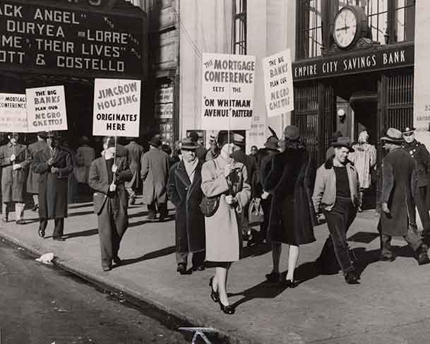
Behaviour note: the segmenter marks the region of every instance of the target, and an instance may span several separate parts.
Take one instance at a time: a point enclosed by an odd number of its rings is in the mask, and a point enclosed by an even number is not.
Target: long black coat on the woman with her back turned
[[[263,186],[273,195],[268,235],[272,242],[309,244],[315,241],[316,215],[312,192],[316,168],[304,148],[286,148],[272,159]]]

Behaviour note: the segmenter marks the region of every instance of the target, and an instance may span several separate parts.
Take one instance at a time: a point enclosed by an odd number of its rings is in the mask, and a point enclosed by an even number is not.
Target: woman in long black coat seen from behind
[[[296,287],[294,269],[299,259],[299,246],[315,241],[313,226],[317,221],[312,192],[316,168],[300,140],[297,126],[286,126],[284,136],[282,153],[273,157],[270,171],[263,181],[264,189],[273,195],[268,225],[273,270],[265,277],[270,282],[283,282],[280,256],[282,244],[288,244],[286,286]]]

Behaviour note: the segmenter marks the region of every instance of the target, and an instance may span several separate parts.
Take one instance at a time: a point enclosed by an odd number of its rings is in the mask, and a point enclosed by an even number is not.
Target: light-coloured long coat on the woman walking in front
[[[227,162],[221,157],[207,161],[201,170],[201,189],[208,197],[220,195],[220,206],[213,216],[205,217],[206,261],[238,261],[241,251],[242,210],[251,198],[251,186],[244,164],[234,162],[234,178],[224,176]],[[235,195],[237,204],[225,201]]]

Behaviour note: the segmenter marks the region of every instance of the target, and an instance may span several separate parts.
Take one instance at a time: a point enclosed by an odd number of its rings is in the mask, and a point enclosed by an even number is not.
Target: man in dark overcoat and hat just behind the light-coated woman
[[[182,140],[182,160],[169,170],[167,193],[176,207],[175,238],[177,271],[184,275],[189,254],[193,254],[193,271],[203,271],[205,261],[205,218],[199,208],[203,198],[201,167],[196,157],[197,144]]]

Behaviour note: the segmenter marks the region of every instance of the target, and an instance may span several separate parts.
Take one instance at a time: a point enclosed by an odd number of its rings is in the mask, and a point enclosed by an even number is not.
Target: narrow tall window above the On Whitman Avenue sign
[[[233,54],[246,55],[246,0],[233,0]]]

